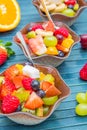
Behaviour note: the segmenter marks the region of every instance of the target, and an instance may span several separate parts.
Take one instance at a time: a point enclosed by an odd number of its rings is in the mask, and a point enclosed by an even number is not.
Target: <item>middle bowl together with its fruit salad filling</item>
[[[55,22],[55,25],[57,28],[51,21],[36,22],[26,25],[21,30],[35,62],[58,66],[69,56],[72,47],[79,42],[79,36],[67,25],[61,22]],[[14,36],[14,41],[28,57],[17,36]]]

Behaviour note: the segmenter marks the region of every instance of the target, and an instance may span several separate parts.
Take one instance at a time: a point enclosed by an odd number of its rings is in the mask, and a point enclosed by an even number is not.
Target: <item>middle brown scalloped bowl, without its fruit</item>
[[[27,24],[21,31],[22,34],[27,34],[28,32],[28,28],[31,27],[34,24],[43,24],[44,22],[36,22],[36,23],[29,23]],[[70,50],[68,53],[65,54],[64,57],[59,57],[59,56],[54,56],[54,55],[41,55],[41,56],[36,56],[36,55],[32,55],[31,53],[31,57],[34,60],[35,63],[40,63],[40,64],[45,64],[45,65],[52,65],[54,67],[59,66],[66,58],[68,58],[68,56],[70,55],[70,52],[72,50],[72,47],[78,43],[80,41],[80,37],[74,32],[72,31],[66,24],[62,23],[62,22],[54,22],[56,26],[58,27],[65,27],[68,29],[69,33],[72,35],[72,38],[74,40],[73,45],[71,46]],[[21,43],[19,43],[17,41],[17,37],[14,36],[13,38],[14,42],[23,50],[24,55],[28,58],[27,53],[25,51],[25,49],[23,48],[23,45]]]

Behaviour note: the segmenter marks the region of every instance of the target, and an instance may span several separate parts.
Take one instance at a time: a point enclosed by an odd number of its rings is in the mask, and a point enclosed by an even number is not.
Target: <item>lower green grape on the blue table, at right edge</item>
[[[80,103],[76,106],[75,112],[79,116],[86,116],[87,115],[87,103]]]

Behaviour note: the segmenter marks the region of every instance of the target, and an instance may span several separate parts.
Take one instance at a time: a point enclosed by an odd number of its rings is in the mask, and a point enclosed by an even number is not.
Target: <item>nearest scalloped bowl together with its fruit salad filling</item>
[[[17,77],[20,80],[16,82]],[[0,74],[0,115],[19,124],[39,124],[69,94],[69,87],[54,67],[14,64]]]

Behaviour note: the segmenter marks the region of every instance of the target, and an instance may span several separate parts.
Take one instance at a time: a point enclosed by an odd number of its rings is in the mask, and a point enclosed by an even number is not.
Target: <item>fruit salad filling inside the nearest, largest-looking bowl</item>
[[[43,117],[56,103],[61,91],[50,73],[26,64],[15,64],[0,75],[0,102],[4,114],[28,112]]]

